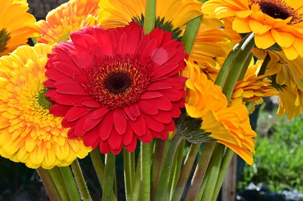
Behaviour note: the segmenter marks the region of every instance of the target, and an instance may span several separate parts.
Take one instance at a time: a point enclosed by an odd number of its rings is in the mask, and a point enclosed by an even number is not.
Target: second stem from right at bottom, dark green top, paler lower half
[[[214,152],[214,157],[212,159],[212,162],[209,166],[209,172],[208,172],[208,181],[205,187],[205,193],[203,193],[201,200],[210,201],[212,200],[215,186],[219,177],[220,173],[220,167],[222,163],[222,158],[224,154],[225,146],[222,144],[218,144],[216,146],[216,151]]]

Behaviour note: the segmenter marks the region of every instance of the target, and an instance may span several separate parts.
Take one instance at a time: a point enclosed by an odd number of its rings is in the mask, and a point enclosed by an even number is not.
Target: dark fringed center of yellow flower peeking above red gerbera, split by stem
[[[141,17],[137,16],[137,17],[132,18],[132,21],[136,22],[143,29],[143,25],[144,25],[144,15],[143,14],[141,14]],[[180,36],[180,34],[182,33],[180,28],[174,29],[172,22],[165,21],[164,18],[160,19],[160,17],[158,17],[155,22],[155,27],[160,28],[163,31],[171,32],[172,39],[175,39],[177,41],[181,41],[181,39],[182,39],[182,37]]]

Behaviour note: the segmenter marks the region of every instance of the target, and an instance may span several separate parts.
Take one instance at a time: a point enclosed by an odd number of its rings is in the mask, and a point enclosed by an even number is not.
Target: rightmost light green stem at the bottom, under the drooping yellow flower
[[[222,147],[225,148],[225,146],[223,145]],[[212,201],[215,201],[218,197],[218,194],[220,192],[220,189],[221,189],[221,186],[223,184],[223,181],[224,181],[224,177],[226,175],[226,172],[228,170],[228,167],[229,167],[229,164],[231,162],[231,159],[234,155],[234,152],[227,148],[226,152],[225,152],[225,155],[224,155],[224,158],[223,158],[223,161],[222,161],[222,164],[221,164],[221,167],[220,167],[220,172],[219,172],[219,176],[218,176],[218,179],[217,179],[217,183],[216,183],[216,186],[215,186],[215,190],[214,190],[214,193],[213,193],[213,198],[211,199]]]

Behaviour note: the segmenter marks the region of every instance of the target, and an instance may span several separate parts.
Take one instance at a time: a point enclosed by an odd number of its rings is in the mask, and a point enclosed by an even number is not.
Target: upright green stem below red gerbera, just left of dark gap
[[[115,175],[115,155],[109,152],[105,157],[105,170],[104,170],[104,181],[103,181],[103,201],[112,200],[113,196],[113,184]]]

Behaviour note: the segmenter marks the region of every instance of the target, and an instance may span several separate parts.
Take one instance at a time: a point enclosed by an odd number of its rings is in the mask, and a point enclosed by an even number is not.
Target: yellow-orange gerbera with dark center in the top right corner
[[[256,46],[277,43],[292,60],[303,57],[303,2],[292,0],[210,0],[202,10],[218,18],[234,17],[238,33],[255,33]]]

